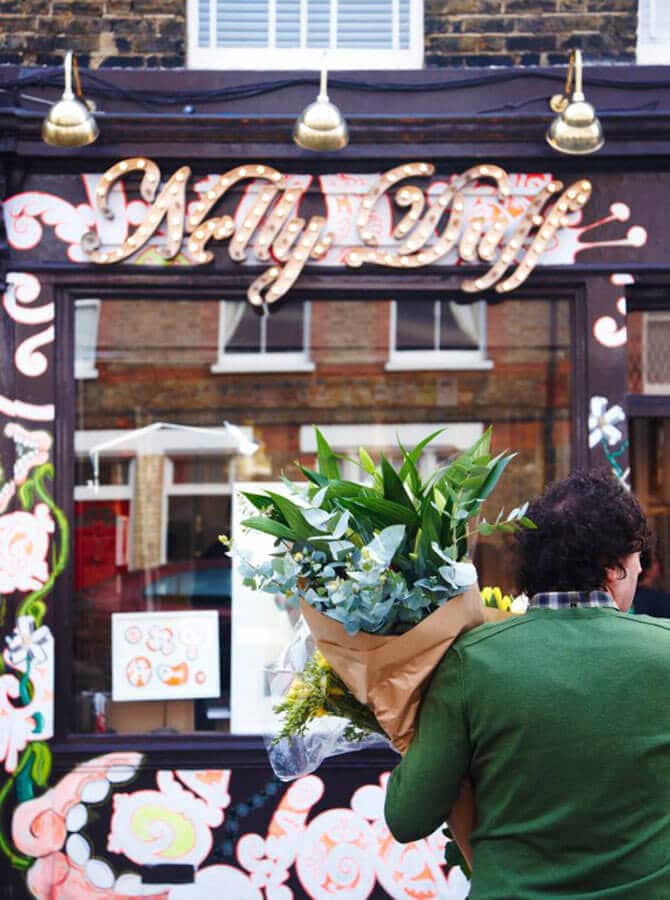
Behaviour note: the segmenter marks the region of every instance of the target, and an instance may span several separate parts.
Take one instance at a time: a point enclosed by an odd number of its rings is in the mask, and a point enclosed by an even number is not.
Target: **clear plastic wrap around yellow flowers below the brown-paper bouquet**
[[[266,674],[275,728],[265,735],[265,746],[275,775],[283,781],[309,775],[331,756],[391,746],[381,730],[371,730],[379,728],[374,716],[317,650],[304,619]]]

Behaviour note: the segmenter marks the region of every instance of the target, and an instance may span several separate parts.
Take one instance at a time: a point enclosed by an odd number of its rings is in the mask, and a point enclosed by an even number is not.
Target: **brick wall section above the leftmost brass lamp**
[[[185,0],[0,0],[0,63],[172,68],[185,61]]]

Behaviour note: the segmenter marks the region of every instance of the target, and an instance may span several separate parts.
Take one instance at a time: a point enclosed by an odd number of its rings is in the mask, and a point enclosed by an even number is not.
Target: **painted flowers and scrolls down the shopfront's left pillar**
[[[44,376],[44,352],[54,338],[53,304],[37,304],[39,281],[9,274],[2,297],[4,314],[25,329],[18,343],[15,371],[29,379]],[[34,404],[0,395],[3,454],[0,463],[0,823],[4,807],[31,800],[46,786],[51,769],[54,716],[54,640],[44,624],[46,601],[65,568],[68,522],[52,496],[52,435],[30,423],[53,420],[51,404]],[[20,420],[20,421],[18,421]],[[25,423],[25,424],[24,424]],[[15,610],[13,623],[7,611]],[[0,824],[0,851],[17,868],[30,859],[12,846]]]

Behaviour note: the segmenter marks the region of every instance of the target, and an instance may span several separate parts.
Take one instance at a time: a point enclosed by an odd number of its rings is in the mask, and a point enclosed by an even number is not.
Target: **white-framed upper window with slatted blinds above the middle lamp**
[[[188,0],[197,69],[420,69],[422,0]]]

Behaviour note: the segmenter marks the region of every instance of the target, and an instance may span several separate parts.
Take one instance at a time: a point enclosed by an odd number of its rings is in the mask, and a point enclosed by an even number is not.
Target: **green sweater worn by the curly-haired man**
[[[397,840],[468,772],[471,900],[670,900],[670,622],[533,609],[461,637],[389,780]]]

